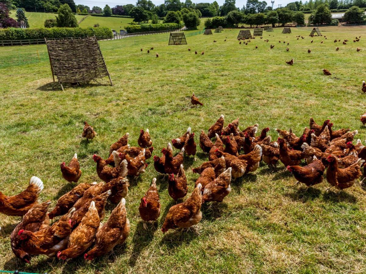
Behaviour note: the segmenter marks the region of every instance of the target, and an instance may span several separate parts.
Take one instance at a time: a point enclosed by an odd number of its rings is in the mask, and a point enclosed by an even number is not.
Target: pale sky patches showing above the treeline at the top
[[[155,5],[160,5],[164,3],[164,0],[152,0],[153,3]],[[182,0],[181,0],[182,1]],[[195,1],[192,0],[192,2],[194,3],[212,3],[214,0],[209,0],[209,1]],[[224,3],[225,0],[216,0],[217,3],[219,3],[219,5],[222,5]],[[260,1],[260,0],[259,0]],[[295,0],[292,0],[295,1]],[[275,4],[273,4],[273,8],[278,8],[279,4],[282,4],[282,6],[285,6],[287,3],[292,2],[291,0],[275,0]],[[183,1],[184,2],[184,1]],[[104,6],[106,4],[108,4],[110,7],[114,7],[115,5],[125,5],[125,4],[136,4],[135,0],[102,0],[102,1],[97,1],[97,0],[75,0],[76,4],[83,4],[83,5],[87,5],[90,8],[92,8],[94,5],[97,5],[98,7],[104,8]],[[245,5],[246,0],[236,0],[236,7],[242,8],[243,5]],[[267,1],[268,5],[272,5],[271,1],[268,0]]]

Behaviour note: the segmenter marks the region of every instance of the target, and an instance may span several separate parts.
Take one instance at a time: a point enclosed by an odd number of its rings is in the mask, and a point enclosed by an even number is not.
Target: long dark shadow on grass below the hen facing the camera
[[[150,229],[150,224],[147,224],[147,230],[143,228],[143,221],[139,221],[134,233],[134,237],[132,239],[132,243],[134,245],[132,249],[132,254],[130,257],[130,260],[128,262],[128,265],[131,267],[134,267],[141,251],[148,246],[151,241],[154,239],[154,233],[158,228],[157,222],[154,222],[152,228]]]

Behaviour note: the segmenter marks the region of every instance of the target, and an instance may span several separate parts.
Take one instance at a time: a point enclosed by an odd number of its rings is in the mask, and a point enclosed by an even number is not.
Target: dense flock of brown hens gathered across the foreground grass
[[[191,103],[202,105],[194,94]],[[361,121],[366,124],[366,113]],[[207,133],[201,130],[199,146],[208,154],[208,161],[193,168],[199,178],[193,193],[184,202],[188,191],[184,154],[194,157],[197,152],[194,132],[188,128],[181,137],[173,138],[162,149],[161,156],[154,155],[154,168],[164,177],[168,175],[168,193],[177,202],[169,209],[161,231],[190,229],[201,220],[203,203],[222,202],[231,191],[232,178],[236,180],[256,171],[261,160],[274,169],[281,161],[296,178],[296,184],[305,184],[306,190],[321,183],[324,173],[330,184],[326,191],[332,187],[341,191],[353,186],[362,175],[361,167],[366,175],[366,147],[360,140],[355,145],[352,143],[357,130],[333,130],[333,123],[329,120],[318,125],[310,118],[310,127],[306,127],[300,137],[291,129],[276,129],[279,138],[272,141],[267,136],[268,131],[269,128],[264,128],[256,136],[258,124],[240,130],[239,118],[224,126],[224,115]],[[85,122],[82,136],[90,140],[96,135],[93,127]],[[145,172],[146,160],[154,149],[148,129],[141,130],[139,146],[130,146],[128,137],[126,133],[110,146],[107,159],[93,155],[97,174],[103,182],[78,184],[61,196],[49,213],[51,201],[38,203],[43,183],[37,177],[32,177],[27,189],[18,195],[8,197],[0,193],[0,212],[23,216],[10,236],[16,257],[27,263],[30,263],[31,256],[41,254],[63,260],[83,255],[86,260],[92,260],[112,252],[115,246],[126,240],[130,233],[124,199],[129,186],[127,176],[139,176]],[[179,150],[176,156],[173,147]],[[300,165],[303,159],[305,166]],[[60,168],[68,182],[78,182],[81,177],[76,153],[68,165],[63,162]],[[101,225],[107,200],[117,206],[108,221]],[[160,209],[154,178],[139,205],[144,229],[147,229],[147,223],[158,219]],[[50,225],[50,219],[57,216],[61,217]]]

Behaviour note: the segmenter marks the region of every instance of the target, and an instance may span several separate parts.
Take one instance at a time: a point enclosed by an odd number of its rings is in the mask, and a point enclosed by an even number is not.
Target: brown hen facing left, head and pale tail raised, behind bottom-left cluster
[[[97,163],[97,174],[101,180],[108,183],[118,177],[126,177],[128,173],[127,161],[123,160],[118,167],[108,167],[105,160],[100,156],[93,155],[94,162]]]

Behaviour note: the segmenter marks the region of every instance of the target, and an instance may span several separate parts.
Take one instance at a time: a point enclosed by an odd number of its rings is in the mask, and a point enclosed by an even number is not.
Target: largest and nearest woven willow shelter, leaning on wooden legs
[[[105,76],[112,79],[105,65],[95,36],[78,39],[45,39],[53,81],[55,76],[64,90],[63,83],[87,82]]]

